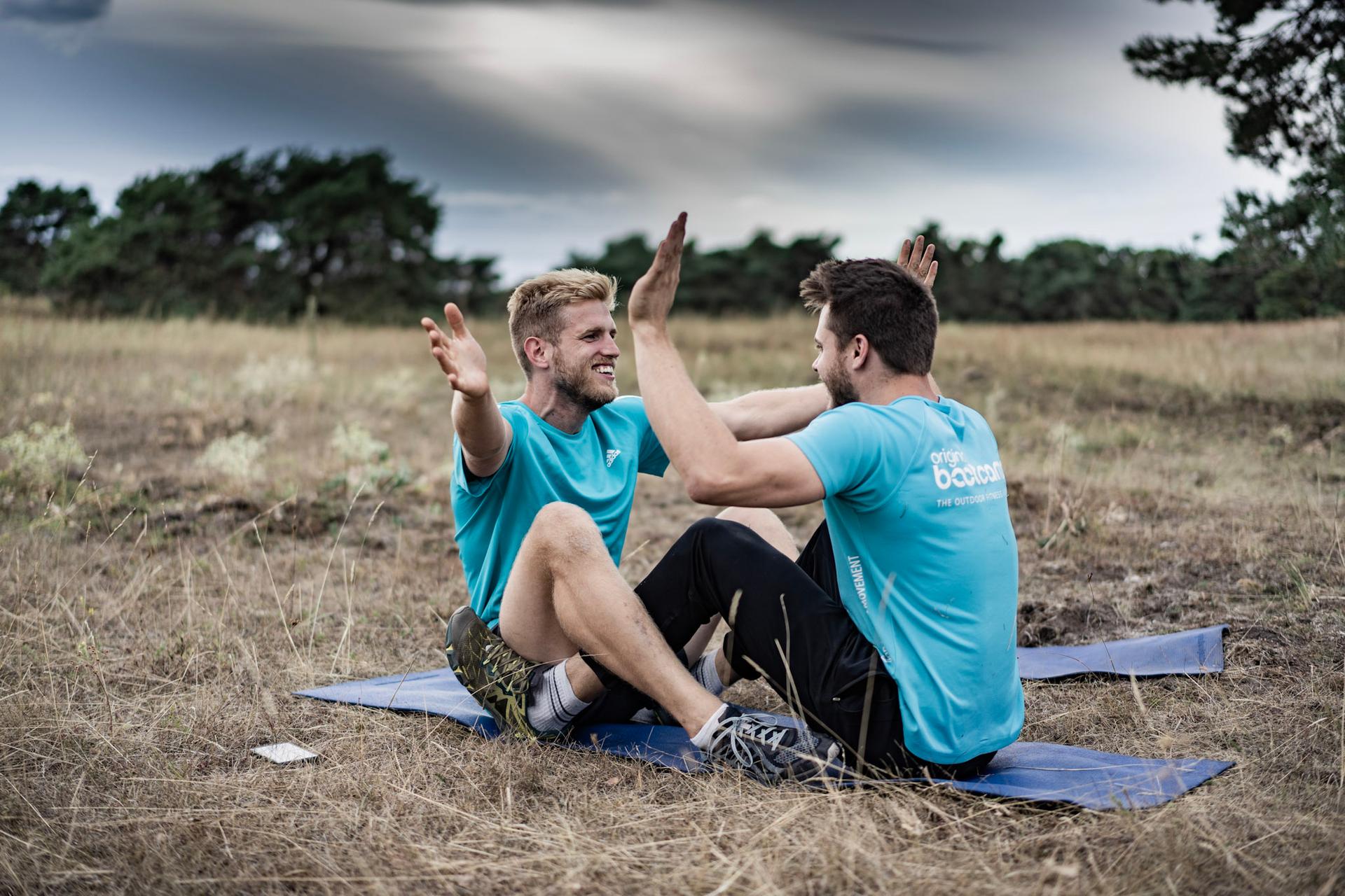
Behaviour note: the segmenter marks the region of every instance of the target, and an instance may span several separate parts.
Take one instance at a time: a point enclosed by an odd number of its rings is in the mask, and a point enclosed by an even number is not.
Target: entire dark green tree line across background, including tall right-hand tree
[[[1163,3],[1165,0],[1158,0]],[[1079,239],[1005,254],[1001,235],[939,246],[936,293],[951,320],[1289,320],[1345,313],[1345,7],[1338,0],[1202,0],[1212,38],[1145,36],[1124,48],[1135,74],[1200,85],[1225,101],[1229,153],[1299,173],[1283,199],[1237,192],[1225,249],[1111,249]],[[499,313],[492,257],[440,258],[432,191],[391,172],[385,152],[243,152],[141,177],[100,215],[89,191],[16,184],[0,207],[0,290],[44,293],[58,309],[331,316],[405,322],[457,301]],[[798,306],[798,283],[839,238],[701,251],[689,243],[678,308],[756,313]],[[629,287],[648,267],[644,235],[566,266]]]

